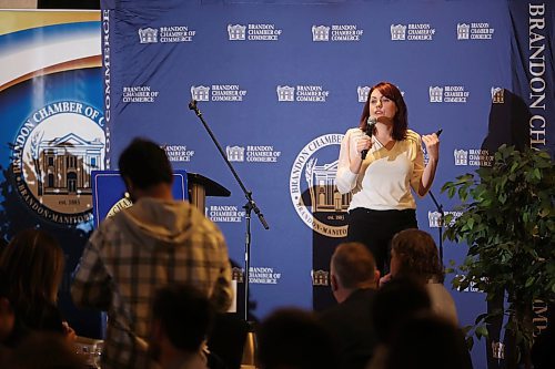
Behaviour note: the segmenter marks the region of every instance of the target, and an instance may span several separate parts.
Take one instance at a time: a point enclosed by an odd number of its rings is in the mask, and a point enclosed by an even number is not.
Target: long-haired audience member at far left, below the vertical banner
[[[17,234],[0,257],[8,298],[17,316],[19,335],[54,331],[74,338],[57,307],[64,256],[58,242],[39,229]]]

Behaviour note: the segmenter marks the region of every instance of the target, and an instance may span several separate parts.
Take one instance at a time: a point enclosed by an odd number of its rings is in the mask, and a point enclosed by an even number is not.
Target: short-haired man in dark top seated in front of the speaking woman
[[[371,311],[380,271],[370,250],[360,243],[339,245],[330,270],[339,305],[325,310],[321,321],[334,338],[340,368],[362,369],[377,341]]]

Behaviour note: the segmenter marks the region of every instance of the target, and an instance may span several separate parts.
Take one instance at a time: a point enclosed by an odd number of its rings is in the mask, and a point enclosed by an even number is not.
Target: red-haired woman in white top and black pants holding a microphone
[[[369,124],[373,129],[365,134]],[[382,275],[393,235],[417,227],[412,191],[418,196],[427,193],[440,160],[437,135],[421,137],[407,126],[401,91],[381,82],[370,90],[359,127],[350,129],[341,144],[335,184],[340,193],[352,194],[347,238],[370,248]]]

